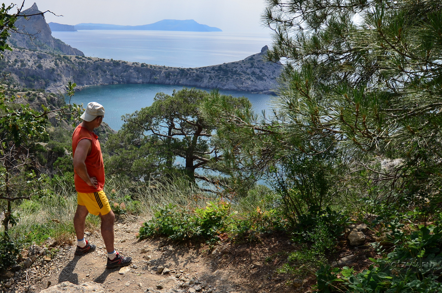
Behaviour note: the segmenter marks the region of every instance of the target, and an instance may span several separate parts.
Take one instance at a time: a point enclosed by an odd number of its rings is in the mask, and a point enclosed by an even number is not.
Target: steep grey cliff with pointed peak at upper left
[[[32,7],[24,10],[22,13],[24,15],[30,15],[41,13],[41,11],[38,10],[37,4],[34,3]],[[47,53],[84,56],[83,52],[80,50],[72,48],[60,39],[55,39],[52,36],[52,31],[49,25],[46,23],[46,20],[42,15],[33,15],[28,17],[28,19],[19,17],[15,22],[15,27],[17,27],[18,31],[22,33],[11,33],[8,42],[12,46]],[[34,35],[35,39],[32,39],[32,37],[23,33]]]

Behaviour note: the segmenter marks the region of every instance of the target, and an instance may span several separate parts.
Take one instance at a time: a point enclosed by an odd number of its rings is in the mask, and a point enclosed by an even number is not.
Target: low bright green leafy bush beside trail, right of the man
[[[210,201],[205,208],[197,208],[194,211],[168,204],[159,208],[152,220],[143,224],[139,237],[144,239],[162,235],[177,241],[198,238],[216,240],[218,235],[235,228],[232,218],[235,214],[231,205],[224,201]]]

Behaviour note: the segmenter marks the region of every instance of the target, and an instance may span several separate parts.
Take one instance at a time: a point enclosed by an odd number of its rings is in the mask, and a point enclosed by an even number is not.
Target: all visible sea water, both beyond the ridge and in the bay
[[[269,34],[187,31],[53,31],[52,35],[85,56],[144,62],[174,67],[201,67],[242,60],[269,45]],[[122,84],[88,86],[76,92],[71,103],[103,104],[104,122],[118,130],[122,115],[152,104],[156,93],[172,94],[176,85]],[[210,89],[205,89],[210,90]],[[271,96],[241,91],[220,90],[222,94],[247,97],[256,112],[270,107]],[[69,98],[69,97],[67,97]]]

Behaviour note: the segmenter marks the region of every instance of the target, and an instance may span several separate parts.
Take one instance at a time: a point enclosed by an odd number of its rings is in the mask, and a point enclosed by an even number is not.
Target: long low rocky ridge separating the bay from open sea
[[[282,65],[265,62],[267,46],[244,60],[199,68],[153,66],[79,56],[13,50],[5,52],[0,70],[29,88],[64,92],[65,84],[79,86],[150,83],[265,92],[277,87]]]

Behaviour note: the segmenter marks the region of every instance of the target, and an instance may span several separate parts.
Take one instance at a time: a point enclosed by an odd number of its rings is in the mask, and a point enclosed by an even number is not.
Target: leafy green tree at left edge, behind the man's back
[[[3,227],[7,238],[10,224],[15,224],[12,201],[48,194],[46,189],[41,188],[46,177],[38,176],[31,167],[35,161],[43,165],[47,162],[47,150],[40,142],[49,138],[46,132],[48,112],[61,112],[75,119],[81,109],[76,105],[52,111],[44,105],[41,107],[43,112],[38,112],[29,104],[16,103],[14,96],[6,96],[4,89],[0,89],[0,207],[5,215]],[[58,114],[57,117],[60,116]],[[50,145],[56,156],[61,154],[58,143],[52,142]]]

